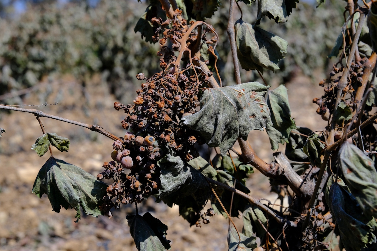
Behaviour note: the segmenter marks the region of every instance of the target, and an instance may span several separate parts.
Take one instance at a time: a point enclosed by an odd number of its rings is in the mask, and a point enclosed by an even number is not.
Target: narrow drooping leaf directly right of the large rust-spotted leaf
[[[268,108],[271,112],[273,125],[267,125],[267,134],[270,138],[271,149],[279,148],[279,143],[288,143],[291,131],[296,129],[294,120],[291,119],[291,108],[288,102],[288,93],[285,85],[279,85],[269,91],[266,97]]]

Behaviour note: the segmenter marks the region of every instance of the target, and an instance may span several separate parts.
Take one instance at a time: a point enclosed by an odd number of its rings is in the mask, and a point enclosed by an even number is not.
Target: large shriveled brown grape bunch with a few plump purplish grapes
[[[157,21],[160,29],[166,25],[166,22]],[[162,49],[157,53],[161,56],[162,70],[149,79],[143,73],[136,75],[144,83],[136,91],[138,96],[132,104],[114,103],[116,110],[126,113],[121,123],[130,132],[121,138],[122,141],[113,143],[113,161],[105,162],[103,172],[97,175],[98,180],[114,180],[107,188],[108,195],[100,207],[109,217],[112,215],[110,208],[119,208],[120,203],[140,203],[145,196],[158,193],[161,174],[158,160],[170,154],[190,161],[199,156],[195,144],[205,143],[180,121],[183,116],[196,112],[199,89],[208,81],[208,75],[198,76],[195,66],[190,63],[182,69],[176,67],[177,57],[165,44],[167,39],[171,40],[176,50],[189,28],[185,20],[176,18],[170,21],[173,22],[172,28],[164,30],[166,37],[160,39]],[[195,30],[190,33],[190,42],[195,42],[196,35]],[[126,174],[125,169],[130,171]]]

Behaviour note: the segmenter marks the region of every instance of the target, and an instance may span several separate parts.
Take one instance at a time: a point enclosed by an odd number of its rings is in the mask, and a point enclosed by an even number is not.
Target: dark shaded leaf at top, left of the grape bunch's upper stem
[[[153,17],[162,18],[162,21],[166,20],[166,13],[161,8],[161,3],[158,1],[152,1],[147,7],[144,14],[139,18],[135,25],[135,33],[140,32],[141,38],[145,37],[146,42],[155,43],[152,36],[155,35],[155,30],[157,27],[153,27],[151,20]]]

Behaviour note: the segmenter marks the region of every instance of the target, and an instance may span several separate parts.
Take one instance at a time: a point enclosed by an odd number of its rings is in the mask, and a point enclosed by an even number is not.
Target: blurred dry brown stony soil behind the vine
[[[317,107],[311,100],[321,95],[322,88],[303,77],[291,81],[287,88],[292,116],[297,125],[309,127],[313,131],[321,130],[326,123],[316,114]],[[121,136],[124,130],[120,121],[124,116],[113,109],[114,101],[115,98],[99,79],[83,89],[69,77],[51,85],[42,85],[23,99],[23,103],[34,105],[58,102],[57,105],[37,109],[84,123],[97,123]],[[0,113],[0,116],[0,127],[6,130],[0,138],[0,251],[136,250],[126,220],[127,214],[134,213],[133,205],[113,211],[112,219],[106,216],[83,216],[81,221],[75,223],[75,210],[63,209],[55,213],[46,195],[40,199],[32,194],[35,176],[48,159],[48,154],[38,157],[31,149],[35,139],[42,135],[40,126],[32,114],[13,112]],[[55,157],[95,176],[101,171],[103,162],[109,161],[112,151],[112,140],[109,138],[52,119],[42,118],[42,122],[47,131],[71,140],[69,152],[54,151]],[[265,132],[251,132],[249,140],[258,155],[265,161],[272,160]],[[259,172],[250,176],[247,185],[254,197],[276,198],[269,192],[268,178]],[[172,250],[227,250],[228,221],[222,216],[215,215],[210,224],[196,228],[190,227],[179,216],[178,207],[156,204],[153,198],[139,207],[139,213],[146,211],[168,226],[167,239],[172,240]],[[242,228],[242,221],[235,220]]]

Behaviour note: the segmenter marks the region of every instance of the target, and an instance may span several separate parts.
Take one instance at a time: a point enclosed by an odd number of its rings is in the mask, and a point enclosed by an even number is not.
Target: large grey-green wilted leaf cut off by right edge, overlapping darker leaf
[[[377,172],[372,159],[357,146],[343,143],[339,161],[344,181],[364,214],[377,218]]]

